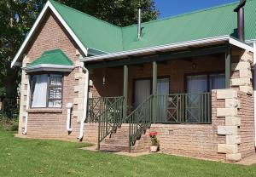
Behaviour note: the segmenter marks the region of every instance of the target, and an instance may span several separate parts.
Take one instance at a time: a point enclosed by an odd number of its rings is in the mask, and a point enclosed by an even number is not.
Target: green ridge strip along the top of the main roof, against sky
[[[247,1],[253,1],[253,0],[247,0]],[[236,4],[236,3],[239,3],[239,2],[224,3],[224,4],[212,6],[212,7],[205,8],[205,9],[194,10],[194,11],[191,11],[191,12],[188,12],[188,13],[176,14],[176,15],[173,15],[173,16],[168,16],[168,17],[165,17],[165,18],[163,18],[163,19],[149,20],[149,21],[143,22],[142,25],[143,25],[143,24],[148,24],[148,23],[155,23],[155,22],[159,22],[159,21],[163,21],[163,20],[175,19],[175,18],[179,18],[179,17],[185,16],[185,15],[201,13],[201,12],[208,11],[208,10],[212,10],[212,9],[224,8],[224,7],[226,7],[226,6],[230,6],[230,5],[233,5],[233,4]],[[137,24],[133,24],[133,25],[131,25],[131,26],[137,26]],[[124,26],[123,28],[131,27],[131,26]]]

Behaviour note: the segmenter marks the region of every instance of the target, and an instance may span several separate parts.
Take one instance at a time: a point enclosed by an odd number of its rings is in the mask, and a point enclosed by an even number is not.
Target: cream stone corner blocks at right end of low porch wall
[[[218,144],[218,153],[225,153],[226,160],[230,162],[241,160],[241,153],[238,151],[241,143],[241,135],[238,134],[241,117],[237,117],[240,101],[237,98],[236,89],[217,90],[217,100],[225,100],[225,107],[217,108],[217,117],[225,117],[224,126],[218,126],[218,135],[226,137],[225,144]]]

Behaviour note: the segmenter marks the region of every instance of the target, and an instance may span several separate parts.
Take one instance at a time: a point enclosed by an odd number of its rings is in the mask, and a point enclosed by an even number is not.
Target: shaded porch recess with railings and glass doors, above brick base
[[[98,149],[123,123],[128,123],[129,151],[155,123],[211,124],[212,89],[230,88],[230,54],[226,47],[201,51],[129,63],[142,60],[137,57],[120,66],[89,64],[94,87],[87,121],[99,123]]]

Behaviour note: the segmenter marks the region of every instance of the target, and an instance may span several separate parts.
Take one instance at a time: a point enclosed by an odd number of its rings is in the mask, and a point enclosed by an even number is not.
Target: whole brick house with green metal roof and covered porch
[[[256,1],[245,3],[118,27],[49,0],[12,62],[19,134],[133,152],[157,131],[160,151],[253,155]]]

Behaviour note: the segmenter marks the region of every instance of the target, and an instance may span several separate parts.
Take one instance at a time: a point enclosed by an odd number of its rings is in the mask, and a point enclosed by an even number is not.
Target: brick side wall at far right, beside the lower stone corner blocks
[[[241,108],[238,111],[238,117],[241,117],[241,126],[238,129],[238,134],[241,135],[241,144],[238,150],[241,157],[247,157],[255,153],[254,147],[254,112],[253,96],[238,92],[238,99],[241,102]]]

